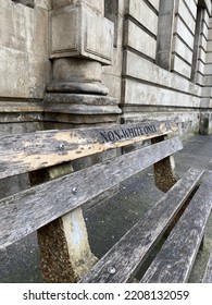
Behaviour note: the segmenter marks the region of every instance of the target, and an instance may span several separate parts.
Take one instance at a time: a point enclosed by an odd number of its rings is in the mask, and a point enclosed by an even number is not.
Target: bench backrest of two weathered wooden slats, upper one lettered
[[[176,131],[174,122],[164,121],[1,136],[0,180],[146,139],[161,139]],[[1,199],[0,248],[86,204],[182,147],[179,137],[170,138]]]

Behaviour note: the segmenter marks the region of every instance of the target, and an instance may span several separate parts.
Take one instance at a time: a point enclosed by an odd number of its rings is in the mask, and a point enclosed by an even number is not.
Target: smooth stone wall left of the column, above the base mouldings
[[[0,2],[0,97],[42,98],[49,80],[48,12]]]

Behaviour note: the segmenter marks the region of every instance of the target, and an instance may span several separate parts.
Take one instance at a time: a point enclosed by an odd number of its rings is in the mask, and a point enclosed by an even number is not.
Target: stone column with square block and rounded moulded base
[[[102,84],[102,65],[112,64],[113,23],[103,0],[52,1],[47,120],[66,123],[116,121],[121,110]],[[54,115],[52,114],[54,113]],[[57,113],[57,115],[55,115]]]

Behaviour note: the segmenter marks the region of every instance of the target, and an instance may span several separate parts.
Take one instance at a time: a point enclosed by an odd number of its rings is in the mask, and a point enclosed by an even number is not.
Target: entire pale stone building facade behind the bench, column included
[[[173,119],[212,132],[211,0],[0,1],[0,134]]]

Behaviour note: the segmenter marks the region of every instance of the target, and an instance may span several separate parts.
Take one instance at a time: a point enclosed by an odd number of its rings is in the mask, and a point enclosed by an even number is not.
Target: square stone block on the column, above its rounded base
[[[89,7],[68,5],[52,11],[50,32],[51,58],[80,56],[111,64],[113,23]]]

